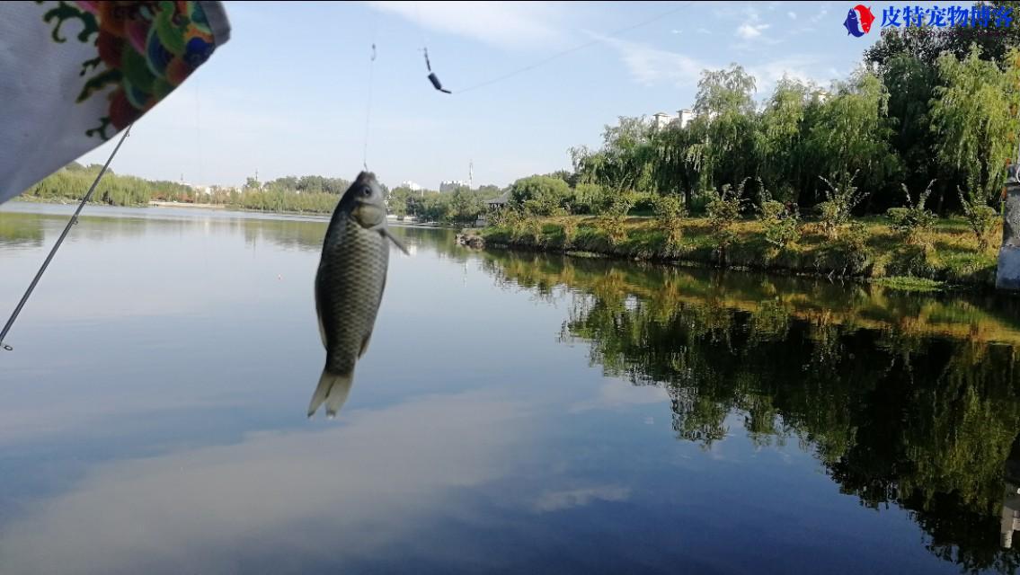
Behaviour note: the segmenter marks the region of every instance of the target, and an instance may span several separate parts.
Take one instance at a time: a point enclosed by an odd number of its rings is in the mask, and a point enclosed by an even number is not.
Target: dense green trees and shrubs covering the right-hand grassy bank
[[[731,65],[694,116],[621,117],[572,171],[514,182],[490,244],[864,277],[988,284],[1018,153],[1020,35],[883,31],[829,90],[763,103]]]

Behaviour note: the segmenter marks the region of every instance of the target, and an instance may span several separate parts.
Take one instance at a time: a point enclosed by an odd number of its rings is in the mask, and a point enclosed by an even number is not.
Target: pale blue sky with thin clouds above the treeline
[[[569,166],[620,115],[690,107],[700,71],[737,62],[765,97],[783,73],[828,85],[879,33],[843,28],[856,2],[225,2],[227,44],[136,123],[119,173],[202,185],[362,165],[395,186],[505,186]],[[913,3],[912,3],[913,5]],[[641,28],[612,34],[674,8]],[[372,42],[377,57],[369,85]],[[458,94],[572,47],[513,79]],[[454,94],[431,88],[420,52]],[[102,162],[110,145],[83,161]]]

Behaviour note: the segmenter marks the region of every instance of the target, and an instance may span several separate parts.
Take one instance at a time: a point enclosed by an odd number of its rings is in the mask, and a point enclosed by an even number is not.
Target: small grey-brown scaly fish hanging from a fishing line
[[[407,248],[387,227],[386,196],[363,171],[334,210],[315,276],[315,311],[325,347],[325,367],[308,406],[308,417],[325,403],[335,417],[347,401],[358,359],[368,349],[386,288],[390,246]]]

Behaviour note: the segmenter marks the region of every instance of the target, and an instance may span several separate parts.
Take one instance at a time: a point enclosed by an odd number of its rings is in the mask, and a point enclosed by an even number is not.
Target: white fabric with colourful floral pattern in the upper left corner
[[[230,34],[220,2],[0,3],[0,203],[142,117]]]

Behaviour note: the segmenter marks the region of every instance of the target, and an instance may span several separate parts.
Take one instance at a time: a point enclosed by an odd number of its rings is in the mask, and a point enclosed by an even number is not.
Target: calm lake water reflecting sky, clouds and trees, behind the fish
[[[0,210],[5,319],[71,207]],[[350,400],[308,420],[324,230],[86,208],[0,352],[0,572],[1020,565],[1016,300],[398,228]]]

